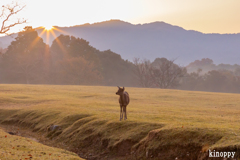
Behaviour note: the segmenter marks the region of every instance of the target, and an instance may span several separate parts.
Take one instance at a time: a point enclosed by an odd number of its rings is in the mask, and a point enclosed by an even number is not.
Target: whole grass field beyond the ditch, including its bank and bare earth
[[[238,152],[240,94],[126,88],[119,121],[117,87],[0,85],[0,122],[65,144],[83,157],[204,157]],[[61,130],[47,132],[49,125]]]

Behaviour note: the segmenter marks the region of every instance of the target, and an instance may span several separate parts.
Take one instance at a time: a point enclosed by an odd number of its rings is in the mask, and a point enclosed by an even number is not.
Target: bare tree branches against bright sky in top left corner
[[[7,34],[7,32],[14,26],[26,23],[25,19],[15,18],[21,10],[25,8],[25,5],[20,5],[17,2],[3,5],[0,10],[0,34]]]

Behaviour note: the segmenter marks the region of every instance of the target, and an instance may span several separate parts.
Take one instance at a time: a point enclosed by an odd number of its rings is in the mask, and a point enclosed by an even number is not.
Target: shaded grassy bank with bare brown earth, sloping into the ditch
[[[58,120],[33,111],[8,114],[0,125],[6,132],[72,151],[88,160],[215,160],[209,157],[208,149],[228,142],[225,133],[216,129],[167,128],[158,123],[107,121],[80,114]],[[238,148],[214,147],[216,151],[235,152],[235,158],[240,155]]]

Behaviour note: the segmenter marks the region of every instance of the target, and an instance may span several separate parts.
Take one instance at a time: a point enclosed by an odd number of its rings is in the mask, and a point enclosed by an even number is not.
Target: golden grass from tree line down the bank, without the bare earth
[[[240,94],[126,87],[128,120],[119,122],[116,91],[117,87],[104,86],[0,85],[0,121],[21,120],[40,132],[57,124],[63,127],[60,136],[48,136],[73,144],[101,135],[114,147],[129,137],[137,142],[157,129],[171,131],[169,137],[184,131],[220,137],[210,147],[240,145]]]

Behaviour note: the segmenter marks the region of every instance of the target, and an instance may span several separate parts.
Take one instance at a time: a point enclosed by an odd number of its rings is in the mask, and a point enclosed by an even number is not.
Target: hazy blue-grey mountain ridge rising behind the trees
[[[37,29],[42,33],[43,29]],[[61,32],[60,32],[61,31]],[[134,57],[154,60],[157,57],[176,59],[187,65],[197,59],[210,58],[216,64],[240,64],[240,33],[203,34],[164,22],[133,25],[120,20],[72,27],[56,27],[55,36],[69,34],[83,38],[99,50],[118,53],[123,59]],[[14,37],[14,35],[13,35]],[[47,34],[41,34],[47,41]],[[48,43],[55,37],[50,33]],[[0,37],[0,47],[7,47],[13,38]]]

